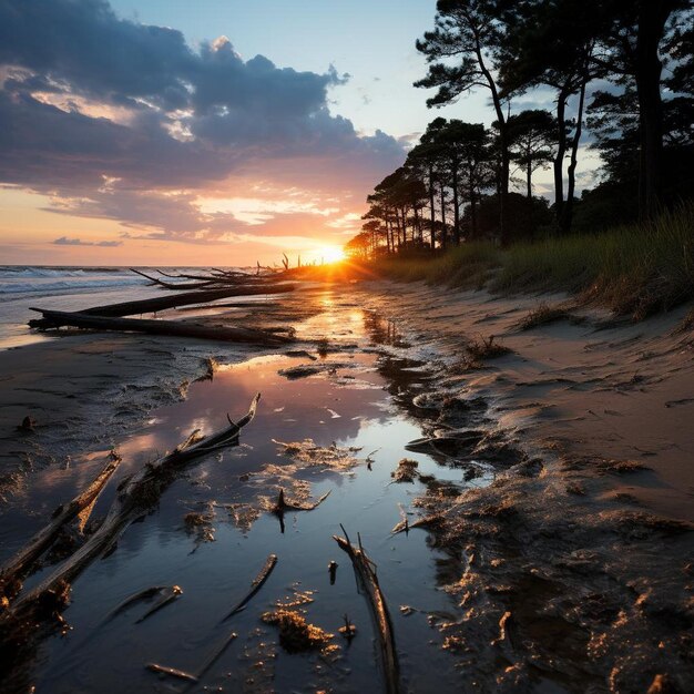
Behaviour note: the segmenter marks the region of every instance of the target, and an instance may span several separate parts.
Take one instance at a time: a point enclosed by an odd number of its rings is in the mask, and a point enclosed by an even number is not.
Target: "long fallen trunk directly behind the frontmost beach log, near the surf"
[[[151,299],[139,299],[135,302],[121,302],[119,304],[106,304],[105,306],[93,306],[79,312],[90,316],[122,317],[136,316],[140,314],[151,314],[157,310],[166,310],[176,306],[191,306],[193,304],[206,304],[231,296],[257,296],[263,294],[286,294],[294,292],[296,285],[293,284],[266,284],[253,286],[236,286],[223,289],[206,289],[203,292],[185,292],[173,296],[157,296]],[[30,320],[32,328],[54,328],[60,325],[47,319]]]

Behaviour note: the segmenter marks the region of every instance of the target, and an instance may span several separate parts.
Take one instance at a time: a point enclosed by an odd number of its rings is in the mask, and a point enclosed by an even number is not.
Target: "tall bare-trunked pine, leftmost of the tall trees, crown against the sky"
[[[506,202],[510,153],[504,103],[492,71],[506,31],[506,14],[500,3],[493,0],[439,0],[433,31],[426,32],[423,39],[417,41],[417,50],[427,57],[429,71],[426,78],[415,82],[415,86],[438,88],[436,95],[427,101],[429,106],[453,102],[478,86],[489,90],[499,123],[499,226],[504,244],[509,242]],[[451,63],[451,60],[456,62]],[[455,233],[456,229],[459,234],[459,218],[455,222]]]

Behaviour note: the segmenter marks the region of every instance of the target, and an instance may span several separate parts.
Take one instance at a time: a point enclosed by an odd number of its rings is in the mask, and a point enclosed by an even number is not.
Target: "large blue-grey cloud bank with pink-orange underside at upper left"
[[[193,50],[104,0],[0,2],[0,184],[155,238],[243,231],[195,202],[228,185],[300,185],[354,205],[405,153],[330,112],[329,90],[348,79],[335,68],[244,60],[226,37]]]

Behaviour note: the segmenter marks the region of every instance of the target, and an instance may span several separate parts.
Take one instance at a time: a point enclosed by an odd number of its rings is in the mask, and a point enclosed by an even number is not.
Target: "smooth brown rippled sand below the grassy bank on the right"
[[[519,323],[540,305],[571,302],[448,289],[441,297],[419,285],[396,306],[377,287],[368,300],[448,364],[467,340],[493,335],[512,353],[448,375],[447,388],[487,401],[498,427],[529,452],[637,462],[651,472],[613,480],[605,493],[630,493],[659,513],[694,520],[694,335],[678,330],[691,306],[641,323],[570,306],[580,325],[522,330]]]

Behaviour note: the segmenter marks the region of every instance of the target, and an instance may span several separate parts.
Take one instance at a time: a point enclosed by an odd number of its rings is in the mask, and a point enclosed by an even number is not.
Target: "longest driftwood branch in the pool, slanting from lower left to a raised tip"
[[[200,456],[238,442],[241,429],[255,417],[259,394],[251,404],[248,414],[238,422],[229,419],[229,426],[208,437],[190,437],[183,445],[162,458],[145,465],[139,472],[125,479],[119,487],[116,498],[106,518],[90,539],[33,590],[20,595],[3,616],[12,616],[23,608],[35,604],[49,591],[65,585],[83,571],[93,559],[113,547],[120,534],[135,518],[156,503],[165,489],[174,482],[185,466]],[[227,416],[228,418],[228,416]]]

